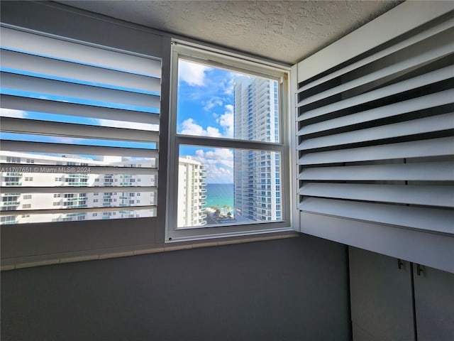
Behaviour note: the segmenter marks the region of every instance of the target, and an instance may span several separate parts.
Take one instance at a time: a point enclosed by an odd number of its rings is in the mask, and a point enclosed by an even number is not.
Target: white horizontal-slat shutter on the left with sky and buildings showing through
[[[2,224],[155,216],[160,77],[151,55],[1,27]]]

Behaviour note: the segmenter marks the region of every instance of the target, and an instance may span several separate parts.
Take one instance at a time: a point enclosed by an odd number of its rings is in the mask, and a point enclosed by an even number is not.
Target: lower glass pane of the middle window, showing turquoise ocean
[[[280,153],[180,146],[178,227],[281,220]]]

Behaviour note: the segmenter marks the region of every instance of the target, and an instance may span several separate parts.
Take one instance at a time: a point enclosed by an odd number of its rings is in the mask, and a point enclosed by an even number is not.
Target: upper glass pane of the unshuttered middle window
[[[279,141],[277,80],[182,59],[178,70],[178,134]]]

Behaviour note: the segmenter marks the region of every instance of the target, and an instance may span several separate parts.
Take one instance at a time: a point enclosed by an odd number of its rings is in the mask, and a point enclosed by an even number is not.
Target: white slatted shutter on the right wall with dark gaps
[[[375,239],[379,246],[373,251],[383,251],[383,241],[365,231],[371,226],[398,227],[448,237],[443,245],[453,246],[452,14],[447,11],[328,69],[321,66],[321,56],[331,52],[331,60],[335,59],[335,48],[323,51],[318,60],[314,55],[299,63],[301,232],[318,234],[316,230],[326,227],[329,233],[341,235],[345,229],[345,236],[334,239],[359,247],[370,247],[374,241],[369,239]],[[374,29],[380,31],[379,26]],[[355,36],[358,44],[362,39],[366,37]],[[314,66],[313,62],[319,72],[308,68],[309,77],[304,77],[305,67]],[[365,225],[355,237],[350,227],[360,227],[358,222]],[[319,235],[329,238],[323,232]],[[395,239],[386,243],[399,248]],[[451,254],[445,259],[449,263],[454,259],[452,249],[448,250],[444,249],[445,255]]]

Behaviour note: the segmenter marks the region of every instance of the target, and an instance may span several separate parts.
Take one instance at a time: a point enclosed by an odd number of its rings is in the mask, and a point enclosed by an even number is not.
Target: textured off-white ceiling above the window
[[[401,1],[57,2],[294,64]]]

